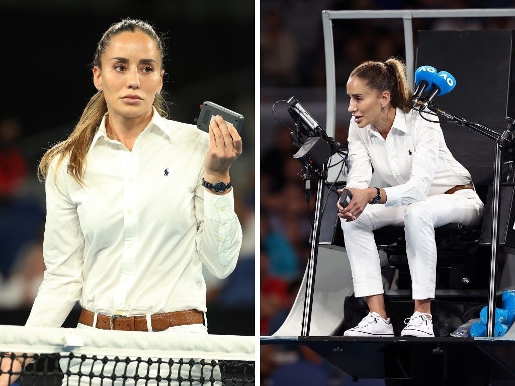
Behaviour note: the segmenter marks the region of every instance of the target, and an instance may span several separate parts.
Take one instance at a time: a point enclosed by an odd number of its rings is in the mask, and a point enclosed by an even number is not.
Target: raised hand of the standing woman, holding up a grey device
[[[209,149],[204,160],[204,176],[224,179],[229,174],[231,164],[242,151],[242,137],[236,128],[227,125],[220,115],[212,118],[209,124]]]

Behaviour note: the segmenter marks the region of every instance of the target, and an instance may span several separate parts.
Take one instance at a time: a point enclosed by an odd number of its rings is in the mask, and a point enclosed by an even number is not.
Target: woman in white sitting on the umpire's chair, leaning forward
[[[364,296],[369,314],[344,336],[393,336],[385,310],[379,254],[372,231],[404,225],[415,312],[401,336],[434,336],[434,228],[451,222],[476,225],[484,204],[470,173],[452,156],[438,123],[410,109],[404,64],[395,58],[357,66],[347,82],[352,199],[337,203],[345,235],[355,296]],[[390,187],[369,187],[372,167]],[[340,190],[341,192],[342,190]],[[369,205],[371,204],[371,205]]]

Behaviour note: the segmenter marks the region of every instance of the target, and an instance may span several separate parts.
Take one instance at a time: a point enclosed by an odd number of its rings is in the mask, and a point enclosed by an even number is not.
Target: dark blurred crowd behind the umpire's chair
[[[261,1],[261,335],[270,336],[281,327],[293,305],[310,258],[311,221],[316,183],[312,181],[309,208],[305,198],[298,148],[290,129],[271,115],[274,101],[284,95],[301,94],[303,106],[325,103],[325,52],[322,10],[508,8],[513,0],[319,0]],[[418,30],[515,29],[508,17],[461,19],[413,19],[414,46]],[[336,86],[345,90],[349,73],[365,60],[385,61],[405,57],[404,29],[399,19],[333,21]],[[311,100],[310,100],[311,95]],[[320,100],[316,100],[319,98]],[[266,108],[264,107],[266,106]],[[312,114],[315,115],[315,114]],[[283,115],[287,116],[287,115]],[[316,116],[315,116],[316,117]],[[323,121],[320,120],[323,124]],[[345,127],[347,125],[347,127]],[[323,125],[322,125],[323,126]],[[348,119],[336,121],[335,138],[347,142]],[[331,209],[331,208],[329,208]],[[328,209],[325,209],[328,210]],[[311,218],[311,219],[310,219]],[[300,363],[310,363],[309,366]],[[298,385],[347,384],[336,367],[321,361],[307,349],[282,345],[261,346],[261,379],[264,385],[281,383],[285,369],[299,376]],[[325,375],[321,375],[322,372]],[[312,374],[319,374],[313,381]],[[330,377],[331,381],[329,382]],[[297,379],[297,378],[295,378]],[[343,382],[343,383],[341,383]],[[359,383],[363,384],[363,383]],[[368,384],[368,383],[367,383]],[[370,383],[372,384],[372,383]]]

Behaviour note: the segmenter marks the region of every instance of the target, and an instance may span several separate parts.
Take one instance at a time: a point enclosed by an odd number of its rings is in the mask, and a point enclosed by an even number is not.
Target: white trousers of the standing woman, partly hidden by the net
[[[93,329],[93,327],[84,325],[84,324],[78,324],[77,328],[88,328]],[[184,326],[177,326],[177,327],[169,327],[164,331],[157,331],[157,332],[141,332],[140,334],[160,334],[160,335],[166,335],[166,334],[177,334],[178,332],[184,334],[205,334],[208,335],[208,329],[206,326],[202,324],[191,324],[191,325],[184,325]],[[102,358],[102,353],[98,353],[97,355],[99,358]],[[109,359],[114,359],[112,357],[109,357]],[[123,357],[125,359],[125,357]],[[131,358],[136,359],[136,358]],[[142,355],[142,359],[146,360],[147,358],[144,358]],[[158,358],[152,358],[153,360],[157,360]],[[179,382],[177,381],[171,381],[168,383],[166,380],[162,380],[161,382],[157,382],[156,380],[149,380],[148,382],[143,378],[145,375],[149,375],[150,377],[156,377],[158,374],[162,377],[170,376],[171,379],[176,378],[180,375],[183,378],[182,385],[200,385],[200,382],[192,382],[188,381],[188,377],[191,375],[194,379],[200,379],[200,375],[205,379],[210,378],[211,376],[211,369],[212,367],[208,364],[205,365],[202,369],[202,365],[196,364],[190,367],[190,365],[187,363],[191,358],[183,358],[185,363],[181,366],[180,374],[179,374],[179,366],[180,364],[175,363],[173,366],[171,366],[167,363],[169,358],[162,358],[163,363],[152,363],[147,364],[145,362],[142,362],[140,364],[136,362],[131,362],[130,364],[126,364],[125,362],[119,362],[118,364],[115,364],[115,362],[108,362],[104,365],[100,360],[97,360],[93,362],[93,360],[81,360],[78,359],[72,359],[70,360],[70,371],[72,374],[76,374],[79,370],[83,374],[89,374],[92,372],[95,375],[104,374],[107,377],[110,377],[112,374],[116,374],[118,377],[116,381],[112,381],[110,378],[105,378],[103,381],[101,381],[101,378],[94,377],[91,379],[86,375],[82,376],[79,381],[78,376],[70,376],[66,377],[64,376],[63,379],[63,386],[109,386],[109,385],[116,385],[116,386],[138,386],[138,385],[149,385],[149,386],[157,386],[159,384],[161,385],[178,385]],[[201,358],[202,359],[202,358]],[[211,359],[219,359],[219,358],[203,358],[206,359],[207,362]],[[68,358],[61,359],[59,361],[61,370],[66,373],[67,367],[68,367]],[[174,360],[177,362],[179,361],[178,358],[174,358]],[[200,359],[195,359],[195,362],[199,362]],[[121,376],[123,374],[127,375],[127,380],[124,381]],[[140,378],[137,382],[132,378],[134,375],[138,374]],[[213,378],[215,379],[221,379],[221,374],[219,367],[215,367],[213,369]],[[211,384],[211,382],[206,381],[204,384]],[[220,382],[214,382],[214,385],[220,385]]]

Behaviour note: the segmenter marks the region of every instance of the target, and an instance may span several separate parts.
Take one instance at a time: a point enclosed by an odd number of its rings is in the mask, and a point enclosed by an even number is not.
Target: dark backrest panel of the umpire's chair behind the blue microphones
[[[419,31],[416,68],[432,65],[456,78],[452,92],[435,98],[437,106],[503,133],[505,117],[515,115],[513,32]],[[442,123],[441,126],[447,146],[472,174],[474,183],[490,184],[495,142],[455,124]],[[484,193],[486,195],[486,189]]]

